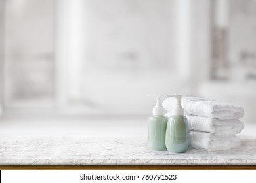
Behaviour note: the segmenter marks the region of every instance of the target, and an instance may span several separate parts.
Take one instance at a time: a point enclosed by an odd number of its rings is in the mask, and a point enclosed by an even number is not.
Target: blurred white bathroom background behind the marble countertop
[[[146,134],[148,93],[239,105],[255,133],[256,1],[0,0],[2,134],[56,116]]]

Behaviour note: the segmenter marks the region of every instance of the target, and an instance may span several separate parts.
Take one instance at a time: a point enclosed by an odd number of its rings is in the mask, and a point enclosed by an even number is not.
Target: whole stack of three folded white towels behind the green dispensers
[[[190,148],[216,151],[240,146],[240,139],[235,134],[244,128],[244,124],[239,120],[244,116],[243,108],[187,96],[182,96],[181,104],[190,127]],[[173,105],[173,98],[163,101],[163,107],[167,111],[171,111]],[[166,116],[171,116],[171,112]]]

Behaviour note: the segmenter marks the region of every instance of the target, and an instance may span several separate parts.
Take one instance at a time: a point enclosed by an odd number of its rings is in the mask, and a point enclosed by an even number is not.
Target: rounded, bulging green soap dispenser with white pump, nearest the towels
[[[171,117],[168,120],[165,146],[169,152],[186,152],[190,146],[189,127],[184,109],[181,107],[182,95],[166,95],[174,97],[176,105],[172,108]]]

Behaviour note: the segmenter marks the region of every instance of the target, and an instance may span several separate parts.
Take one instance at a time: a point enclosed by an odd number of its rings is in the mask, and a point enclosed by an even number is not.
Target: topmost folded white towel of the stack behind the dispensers
[[[163,107],[171,111],[175,100],[168,98],[163,101]],[[240,119],[244,116],[244,109],[221,101],[206,100],[199,97],[182,96],[181,104],[186,115],[205,116],[222,120]]]

